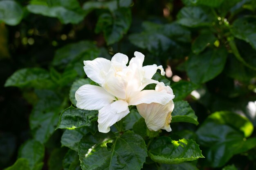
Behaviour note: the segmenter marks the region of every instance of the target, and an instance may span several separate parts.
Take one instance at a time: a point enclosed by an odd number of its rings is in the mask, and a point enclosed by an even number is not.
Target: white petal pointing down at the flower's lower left
[[[98,117],[99,132],[108,133],[110,131],[110,126],[112,126],[117,121],[125,117],[128,113],[130,113],[128,106],[126,107],[126,110],[120,113],[117,113],[116,112],[117,108],[112,107],[112,104],[109,104],[108,106],[104,106],[101,110],[99,110],[99,117]],[[113,106],[116,106],[116,105],[114,104]]]

